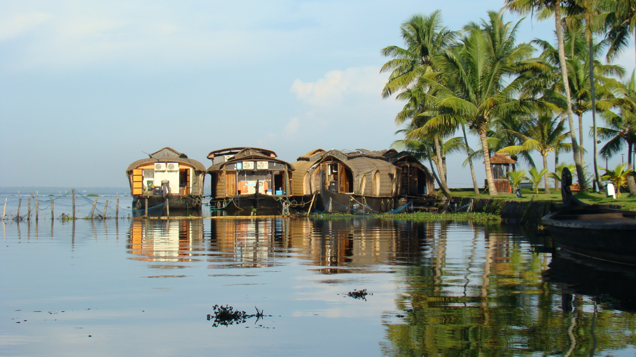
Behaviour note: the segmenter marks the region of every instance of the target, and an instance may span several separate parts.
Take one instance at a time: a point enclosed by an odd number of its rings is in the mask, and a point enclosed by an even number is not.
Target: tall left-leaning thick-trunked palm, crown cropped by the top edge
[[[565,63],[565,44],[563,42],[562,8],[566,11],[574,8],[573,0],[505,0],[504,9],[511,12],[527,15],[534,11],[544,11],[542,18],[547,18],[549,13],[554,15],[556,39],[558,40],[558,60],[561,69],[562,81],[565,92],[565,104],[567,108],[567,120],[570,126],[570,139],[572,140],[572,152],[574,153],[574,163],[576,165],[576,175],[582,190],[587,189],[579,145],[574,132],[574,119],[572,118],[572,99],[570,97],[569,81],[567,77],[567,64]]]

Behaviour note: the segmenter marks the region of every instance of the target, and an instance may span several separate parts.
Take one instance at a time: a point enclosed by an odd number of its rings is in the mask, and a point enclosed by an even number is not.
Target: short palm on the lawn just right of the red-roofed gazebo
[[[506,130],[509,135],[520,138],[522,145],[513,145],[504,147],[498,152],[506,154],[518,154],[519,152],[528,152],[536,150],[543,158],[544,183],[546,194],[550,193],[550,184],[548,184],[548,154],[550,152],[569,151],[572,144],[565,142],[567,132],[565,124],[558,117],[550,114],[540,114],[537,118],[531,119],[525,132]],[[543,172],[543,170],[542,170]]]

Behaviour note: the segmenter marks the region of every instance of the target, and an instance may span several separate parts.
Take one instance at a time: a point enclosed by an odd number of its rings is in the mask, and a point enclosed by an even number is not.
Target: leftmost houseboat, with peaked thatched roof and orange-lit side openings
[[[144,215],[146,208],[153,215],[167,210],[186,210],[190,214],[200,211],[205,166],[170,147],[148,156],[126,170],[134,215]]]

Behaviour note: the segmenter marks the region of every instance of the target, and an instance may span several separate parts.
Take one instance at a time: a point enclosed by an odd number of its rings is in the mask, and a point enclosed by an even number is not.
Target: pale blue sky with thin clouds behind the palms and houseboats
[[[0,0],[0,186],[127,187],[127,166],[165,146],[205,166],[225,147],[291,163],[317,148],[388,149],[403,103],[380,95],[380,50],[402,45],[399,26],[416,13],[439,9],[454,30],[501,6]],[[527,18],[518,39],[553,29]],[[631,73],[633,53],[632,42],[615,63]],[[450,187],[471,187],[463,161],[448,157]]]

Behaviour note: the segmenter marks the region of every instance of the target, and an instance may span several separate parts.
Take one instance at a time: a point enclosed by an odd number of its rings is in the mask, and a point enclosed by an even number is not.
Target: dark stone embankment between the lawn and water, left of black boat
[[[453,197],[456,207],[469,206],[469,212],[484,212],[500,215],[503,222],[511,224],[539,224],[541,217],[558,209],[562,203],[556,201],[506,201],[498,198]]]

